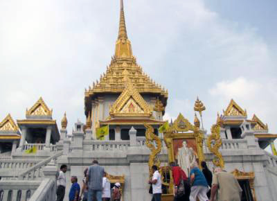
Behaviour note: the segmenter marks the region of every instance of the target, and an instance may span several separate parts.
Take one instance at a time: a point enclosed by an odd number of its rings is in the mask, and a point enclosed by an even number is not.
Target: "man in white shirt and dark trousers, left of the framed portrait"
[[[152,201],[161,201],[161,175],[157,166],[152,166],[152,180],[149,181],[152,184],[153,197]]]

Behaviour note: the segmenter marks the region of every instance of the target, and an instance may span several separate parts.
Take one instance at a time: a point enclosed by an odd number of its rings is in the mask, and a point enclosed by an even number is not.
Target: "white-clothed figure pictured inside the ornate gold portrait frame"
[[[186,141],[183,141],[183,146],[178,148],[178,164],[189,177],[190,166],[196,162],[196,155],[193,148],[188,148]]]

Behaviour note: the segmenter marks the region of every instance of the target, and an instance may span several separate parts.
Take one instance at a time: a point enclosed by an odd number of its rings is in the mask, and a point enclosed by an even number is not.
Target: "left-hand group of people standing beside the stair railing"
[[[57,201],[64,200],[66,170],[66,165],[60,166],[60,173],[57,175]],[[99,166],[97,160],[93,160],[92,165],[84,170],[82,189],[76,176],[71,176],[71,183],[69,201],[120,201],[121,199],[120,183],[116,182],[111,189],[107,173],[102,166]]]

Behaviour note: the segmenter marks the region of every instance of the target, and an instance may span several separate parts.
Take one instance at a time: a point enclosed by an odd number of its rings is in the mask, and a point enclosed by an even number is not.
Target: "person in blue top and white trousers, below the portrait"
[[[199,201],[207,201],[208,183],[204,174],[199,170],[197,162],[193,163],[190,168],[190,201],[196,201],[197,197]]]

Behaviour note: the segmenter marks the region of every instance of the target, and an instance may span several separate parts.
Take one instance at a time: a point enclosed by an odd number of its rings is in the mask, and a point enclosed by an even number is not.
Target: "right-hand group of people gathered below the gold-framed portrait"
[[[190,166],[190,175],[175,162],[170,163],[174,182],[174,201],[240,201],[242,189],[238,180],[231,173],[215,168],[214,174],[208,169],[206,161],[201,163],[202,171],[197,162]],[[151,184],[152,201],[161,201],[162,182],[157,166],[152,166]],[[151,189],[150,187],[150,189]]]

